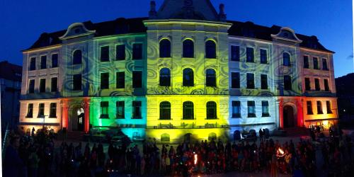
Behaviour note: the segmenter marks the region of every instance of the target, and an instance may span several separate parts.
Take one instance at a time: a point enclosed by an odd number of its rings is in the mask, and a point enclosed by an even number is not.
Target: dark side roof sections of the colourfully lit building
[[[84,22],[84,25],[88,30],[96,30],[95,37],[130,33],[146,33],[147,28],[145,27],[143,21],[148,19],[149,18],[117,18],[114,21],[105,21],[101,23],[92,23],[91,21],[86,21]],[[229,28],[229,35],[267,41],[272,41],[273,38],[271,35],[276,35],[279,33],[281,28],[278,25],[273,25],[271,27],[256,25],[249,21],[227,22],[232,23],[232,27]],[[60,30],[55,33],[42,33],[40,38],[38,38],[38,40],[30,48],[28,48],[28,50],[61,44],[62,41],[59,40],[59,37],[64,35],[66,31],[67,30]],[[307,47],[309,49],[321,50],[324,52],[332,52],[331,50],[327,50],[326,47],[321,45],[319,40],[314,35],[296,35],[300,40],[302,40],[300,47]]]

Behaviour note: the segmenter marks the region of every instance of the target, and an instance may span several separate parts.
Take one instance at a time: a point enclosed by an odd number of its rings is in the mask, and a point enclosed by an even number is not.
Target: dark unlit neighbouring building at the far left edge
[[[1,132],[16,128],[20,113],[22,67],[0,62]]]

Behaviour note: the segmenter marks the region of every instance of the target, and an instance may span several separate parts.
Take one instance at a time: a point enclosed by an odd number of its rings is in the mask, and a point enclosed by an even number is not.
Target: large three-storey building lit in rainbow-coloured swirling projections
[[[149,18],[74,23],[23,51],[21,125],[176,142],[336,122],[333,52],[316,37],[227,21],[208,0],[150,6]]]

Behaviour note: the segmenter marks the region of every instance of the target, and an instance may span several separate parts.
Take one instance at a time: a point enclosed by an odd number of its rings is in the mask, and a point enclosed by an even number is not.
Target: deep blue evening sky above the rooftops
[[[162,1],[156,0],[158,7]],[[322,45],[336,52],[336,77],[354,72],[351,0],[212,0],[212,3],[217,11],[219,3],[224,3],[229,20],[287,26],[296,33],[316,35]],[[149,0],[1,0],[0,61],[22,65],[21,50],[30,47],[43,32],[63,30],[75,22],[147,16],[148,11]]]

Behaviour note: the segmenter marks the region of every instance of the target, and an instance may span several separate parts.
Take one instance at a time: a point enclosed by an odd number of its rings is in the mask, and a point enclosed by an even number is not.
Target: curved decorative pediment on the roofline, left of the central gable
[[[67,28],[67,32],[59,37],[60,40],[70,39],[70,38],[79,38],[84,35],[91,35],[96,33],[96,30],[88,30],[84,23],[73,23]]]

